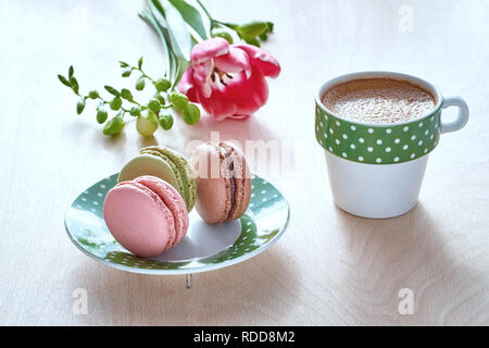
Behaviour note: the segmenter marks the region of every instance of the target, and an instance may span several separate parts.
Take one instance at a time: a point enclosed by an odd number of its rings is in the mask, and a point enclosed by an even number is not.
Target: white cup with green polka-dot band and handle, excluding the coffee
[[[322,103],[335,85],[362,78],[393,78],[429,91],[436,107],[426,115],[393,124],[346,120]],[[441,110],[455,107],[456,117],[443,120]],[[363,217],[385,219],[406,213],[417,202],[428,154],[440,134],[461,129],[468,108],[460,97],[443,98],[428,82],[391,72],[342,75],[325,83],[316,95],[315,134],[325,149],[335,203]]]

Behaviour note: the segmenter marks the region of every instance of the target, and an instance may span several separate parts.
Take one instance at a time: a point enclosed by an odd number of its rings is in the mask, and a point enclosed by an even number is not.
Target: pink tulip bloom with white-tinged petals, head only
[[[178,89],[216,120],[253,114],[268,98],[265,76],[280,73],[277,60],[260,48],[220,37],[196,45],[190,60]]]

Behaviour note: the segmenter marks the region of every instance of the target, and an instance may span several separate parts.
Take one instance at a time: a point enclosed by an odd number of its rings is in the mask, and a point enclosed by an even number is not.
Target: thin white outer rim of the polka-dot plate
[[[114,173],[112,175],[109,175],[104,178],[102,178],[101,181],[112,177],[114,175],[116,175],[117,173]],[[252,179],[253,178],[261,178],[262,181],[265,181],[266,183],[273,185],[273,187],[278,191],[278,194],[280,194],[281,198],[284,199],[286,206],[287,206],[287,219],[285,224],[281,226],[280,231],[278,231],[278,233],[265,245],[260,246],[259,248],[244,253],[236,259],[231,259],[231,260],[225,260],[218,263],[211,263],[211,264],[206,264],[205,266],[202,266],[200,269],[178,269],[178,270],[148,270],[148,269],[136,269],[136,268],[131,268],[131,266],[127,266],[124,264],[118,264],[118,263],[113,263],[110,262],[103,258],[100,258],[91,252],[89,252],[88,250],[86,250],[85,248],[83,248],[78,241],[76,241],[74,239],[74,236],[71,234],[70,228],[66,224],[66,217],[72,209],[72,207],[74,206],[75,201],[77,200],[77,198],[79,197],[79,195],[72,201],[72,203],[70,204],[68,209],[66,210],[65,214],[64,214],[64,229],[70,238],[70,240],[79,249],[82,250],[85,254],[87,254],[90,259],[100,262],[104,265],[108,265],[112,269],[116,269],[116,270],[121,270],[121,271],[125,271],[125,272],[129,272],[129,273],[136,273],[136,274],[147,274],[147,275],[185,275],[185,274],[197,274],[197,273],[203,273],[203,272],[210,272],[210,271],[215,271],[218,269],[224,269],[224,268],[228,268],[231,265],[235,265],[237,263],[241,263],[243,261],[247,261],[249,259],[254,258],[255,256],[262,253],[263,251],[267,250],[269,247],[272,247],[275,243],[277,243],[278,239],[280,239],[281,235],[285,233],[285,231],[287,229],[289,222],[290,222],[290,204],[289,201],[287,200],[286,196],[284,195],[284,192],[277,188],[274,184],[272,184],[269,181],[261,177],[260,175],[256,174],[252,174]],[[99,181],[99,182],[101,182]],[[97,182],[97,183],[99,183]],[[97,184],[96,183],[96,184]],[[93,184],[93,185],[96,185]],[[93,186],[91,185],[91,186]],[[89,186],[89,187],[91,187]]]

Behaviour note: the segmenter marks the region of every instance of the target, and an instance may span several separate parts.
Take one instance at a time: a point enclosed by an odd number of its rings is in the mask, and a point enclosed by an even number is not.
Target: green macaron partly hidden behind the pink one
[[[139,156],[127,162],[118,174],[118,182],[152,175],[175,187],[190,212],[196,203],[197,184],[193,170],[187,159],[175,150],[150,146],[139,150]]]

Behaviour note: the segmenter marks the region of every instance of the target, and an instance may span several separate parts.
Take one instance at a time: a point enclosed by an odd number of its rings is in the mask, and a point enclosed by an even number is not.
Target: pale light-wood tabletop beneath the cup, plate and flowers
[[[117,60],[163,65],[137,16],[142,1],[0,2],[0,324],[489,324],[489,2],[206,1],[218,18],[272,20],[265,45],[283,65],[266,107],[247,122],[177,122],[143,139],[129,124],[103,137],[55,75],[75,65],[82,88],[122,87]],[[413,14],[410,21],[410,13]],[[408,16],[408,17],[406,17]],[[406,22],[408,21],[408,22]],[[419,203],[390,220],[354,217],[331,200],[314,139],[316,88],[336,75],[389,70],[463,96],[468,125],[430,154]],[[121,84],[121,85],[117,85]],[[276,140],[280,159],[254,169],[284,190],[288,231],[259,257],[193,277],[113,270],[64,232],[72,200],[148,144]],[[72,311],[84,288],[88,313]],[[414,314],[398,312],[399,290]]]

